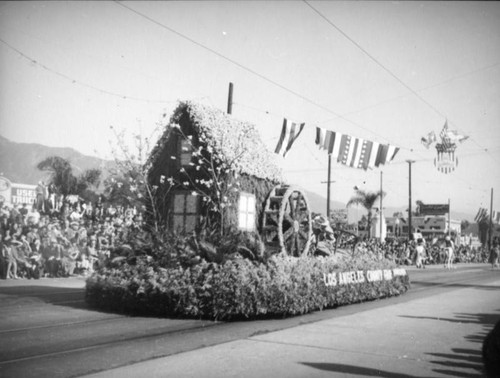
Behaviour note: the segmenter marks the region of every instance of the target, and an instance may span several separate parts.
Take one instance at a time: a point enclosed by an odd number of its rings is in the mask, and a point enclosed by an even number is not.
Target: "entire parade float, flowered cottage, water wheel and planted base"
[[[316,256],[305,193],[284,183],[248,122],[180,103],[147,167],[148,213],[163,233],[147,248],[127,248],[126,258],[118,248],[87,279],[91,306],[239,319],[304,314],[409,288],[393,262]]]

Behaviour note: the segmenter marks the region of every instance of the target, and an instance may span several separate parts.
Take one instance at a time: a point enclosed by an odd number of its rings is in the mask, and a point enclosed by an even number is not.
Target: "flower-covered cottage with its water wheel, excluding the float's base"
[[[312,221],[305,194],[283,184],[254,125],[183,103],[151,154],[157,207],[176,232],[199,227],[259,232],[266,248],[307,253]]]

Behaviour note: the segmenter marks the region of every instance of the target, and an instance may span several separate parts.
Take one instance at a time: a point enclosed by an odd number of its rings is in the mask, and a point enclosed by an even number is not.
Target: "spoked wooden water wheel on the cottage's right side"
[[[262,234],[267,247],[301,256],[309,251],[311,211],[305,194],[288,185],[273,188],[264,207]]]

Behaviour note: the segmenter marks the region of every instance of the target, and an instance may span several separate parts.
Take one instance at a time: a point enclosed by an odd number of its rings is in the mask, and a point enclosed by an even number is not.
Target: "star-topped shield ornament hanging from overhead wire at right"
[[[434,165],[440,172],[448,174],[458,166],[458,158],[455,156],[457,142],[463,142],[468,136],[460,135],[456,130],[449,130],[448,121],[446,121],[443,130],[439,133],[439,137],[441,143],[436,143],[437,156],[434,159]],[[429,148],[436,140],[434,131],[431,131],[421,139],[421,142],[426,148]]]

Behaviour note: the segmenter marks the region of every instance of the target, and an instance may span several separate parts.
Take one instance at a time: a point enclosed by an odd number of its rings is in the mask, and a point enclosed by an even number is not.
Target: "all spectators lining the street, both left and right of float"
[[[442,264],[446,254],[442,244],[378,239],[357,240],[353,234],[334,236],[326,220],[315,218],[316,240],[332,249],[355,246],[355,253],[374,254],[398,265]],[[115,246],[127,240],[130,232],[143,228],[142,216],[135,208],[92,204],[78,199],[54,206],[44,201],[7,206],[0,204],[0,278],[66,277],[89,274],[109,258]],[[496,240],[496,239],[495,239]],[[495,244],[496,243],[496,244]],[[498,249],[498,240],[495,241]],[[316,242],[316,248],[320,247]],[[419,256],[418,251],[424,251]],[[498,254],[498,251],[497,251]],[[486,248],[458,246],[455,263],[487,263],[491,251]]]

